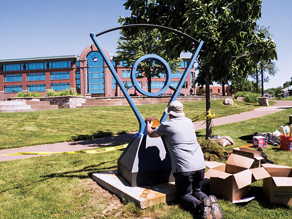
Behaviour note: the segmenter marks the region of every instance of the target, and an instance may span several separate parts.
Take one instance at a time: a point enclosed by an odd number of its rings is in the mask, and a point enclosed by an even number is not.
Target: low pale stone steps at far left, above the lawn
[[[0,101],[0,112],[28,112],[55,109],[58,109],[58,106],[50,105],[50,101]]]

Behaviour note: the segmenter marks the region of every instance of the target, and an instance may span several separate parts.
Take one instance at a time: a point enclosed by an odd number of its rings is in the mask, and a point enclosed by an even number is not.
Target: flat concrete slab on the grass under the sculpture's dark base
[[[117,170],[94,173],[92,179],[117,196],[135,202],[141,209],[176,199],[174,182],[131,187]]]

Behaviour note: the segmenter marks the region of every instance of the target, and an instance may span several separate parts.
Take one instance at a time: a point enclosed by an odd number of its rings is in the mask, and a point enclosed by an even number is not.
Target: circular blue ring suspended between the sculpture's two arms
[[[162,87],[162,89],[160,91],[155,92],[155,93],[144,91],[139,86],[139,84],[137,82],[137,78],[136,78],[136,72],[137,72],[138,65],[140,64],[140,62],[142,62],[144,60],[147,60],[147,59],[154,59],[154,60],[160,62],[164,66],[164,69],[166,69],[164,86]],[[131,81],[132,81],[132,84],[134,85],[135,89],[137,91],[139,91],[140,93],[142,93],[142,94],[144,94],[146,96],[159,96],[159,95],[163,94],[167,90],[167,88],[170,86],[171,70],[170,70],[170,67],[169,67],[168,63],[162,57],[160,57],[158,55],[154,55],[154,54],[143,55],[137,61],[135,61],[134,65],[133,65],[133,67],[131,69]]]

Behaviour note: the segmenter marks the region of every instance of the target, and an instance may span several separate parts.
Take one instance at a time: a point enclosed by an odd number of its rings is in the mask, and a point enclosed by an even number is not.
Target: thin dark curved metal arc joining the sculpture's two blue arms
[[[181,32],[181,31],[177,31],[177,30],[172,29],[172,28],[169,28],[169,27],[164,27],[164,26],[159,26],[159,25],[154,25],[154,24],[129,24],[129,25],[124,25],[124,26],[120,26],[120,27],[112,28],[112,29],[110,29],[110,30],[106,30],[106,31],[104,31],[104,32],[101,32],[101,33],[99,33],[99,34],[96,34],[95,36],[98,37],[98,36],[101,36],[101,35],[103,35],[103,34],[109,33],[109,32],[111,32],[111,31],[120,30],[120,29],[125,29],[125,28],[131,28],[131,27],[136,27],[136,28],[138,28],[138,27],[152,27],[152,28],[157,28],[157,29],[161,29],[161,30],[166,30],[166,31],[169,31],[169,32],[175,33],[175,34],[177,34],[177,35],[180,35],[180,36],[182,36],[182,37],[185,37],[185,38],[191,40],[192,42],[198,42],[198,43],[200,43],[199,40],[197,40],[197,39],[195,39],[195,38],[193,38],[193,37],[191,37],[191,36],[188,36],[188,35],[184,34],[184,33]]]

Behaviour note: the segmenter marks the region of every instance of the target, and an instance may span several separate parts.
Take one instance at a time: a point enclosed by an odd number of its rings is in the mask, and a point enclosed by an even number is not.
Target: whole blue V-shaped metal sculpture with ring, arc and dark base
[[[168,27],[152,25],[152,24],[132,24],[132,25],[125,25],[117,28],[110,29],[108,31],[99,33],[95,35],[94,33],[90,34],[91,39],[93,40],[95,46],[98,48],[100,54],[104,58],[107,66],[110,69],[114,79],[116,80],[117,84],[121,88],[124,96],[126,97],[131,109],[135,113],[136,118],[139,122],[139,131],[136,133],[134,138],[128,144],[128,147],[124,150],[120,158],[118,159],[118,172],[125,178],[125,180],[131,186],[140,186],[146,184],[154,184],[154,183],[167,183],[169,181],[173,181],[173,176],[171,174],[171,162],[169,157],[169,152],[164,144],[164,138],[155,138],[151,139],[147,136],[146,132],[146,123],[141,116],[139,110],[135,106],[133,100],[131,99],[127,89],[125,88],[124,84],[122,83],[120,77],[116,73],[114,67],[112,66],[108,56],[106,55],[105,51],[103,50],[101,44],[99,43],[97,36],[102,34],[108,33],[110,31],[129,28],[129,27],[152,27],[152,28],[159,28],[163,30],[167,30],[173,33],[176,33],[180,36],[186,37],[187,39],[199,43],[195,53],[192,55],[187,67],[185,68],[183,75],[177,85],[176,88],[170,86],[171,82],[171,70],[168,63],[158,55],[144,55],[140,57],[133,65],[131,69],[131,81],[133,86],[137,91],[141,94],[146,96],[155,97],[163,94],[168,88],[174,90],[173,95],[171,96],[168,105],[175,101],[183,87],[183,83],[186,80],[187,75],[190,73],[192,66],[195,63],[197,56],[201,50],[203,45],[203,41],[198,41],[188,35],[183,34],[177,30],[173,30]],[[137,83],[136,79],[136,70],[140,62],[152,59],[157,62],[160,62],[165,69],[165,82],[162,89],[158,92],[151,93],[144,91],[139,84]],[[167,105],[167,106],[168,106]],[[167,119],[168,114],[163,113],[160,122],[164,122]]]

